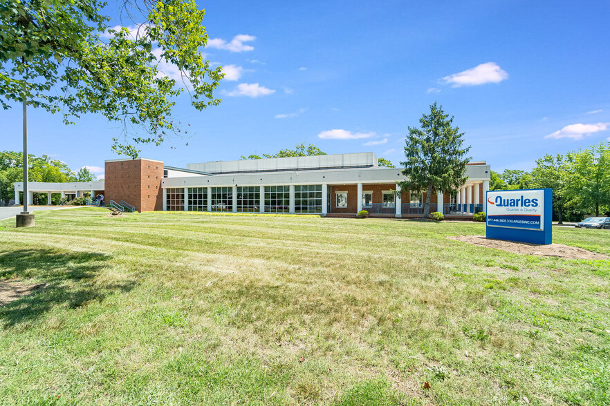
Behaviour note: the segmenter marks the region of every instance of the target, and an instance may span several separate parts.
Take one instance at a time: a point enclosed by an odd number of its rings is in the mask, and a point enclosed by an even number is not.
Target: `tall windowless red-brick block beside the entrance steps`
[[[144,159],[106,162],[104,200],[107,204],[124,200],[140,212],[161,210],[162,179],[163,162]]]

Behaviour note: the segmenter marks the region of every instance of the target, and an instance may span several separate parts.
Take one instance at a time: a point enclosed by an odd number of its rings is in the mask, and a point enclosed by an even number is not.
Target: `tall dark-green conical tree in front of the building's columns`
[[[470,146],[463,146],[464,133],[452,127],[454,117],[443,111],[443,106],[430,106],[430,114],[419,119],[420,128],[409,127],[405,140],[405,166],[407,180],[399,182],[401,189],[427,191],[423,218],[430,213],[432,191],[454,193],[466,182],[466,157]]]

